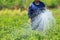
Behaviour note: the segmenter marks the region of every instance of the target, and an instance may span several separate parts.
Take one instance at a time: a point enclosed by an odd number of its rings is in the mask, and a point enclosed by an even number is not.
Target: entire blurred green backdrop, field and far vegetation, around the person
[[[28,30],[28,6],[33,0],[0,0],[0,40],[60,40],[60,0],[41,0],[52,11],[57,26],[47,34]]]

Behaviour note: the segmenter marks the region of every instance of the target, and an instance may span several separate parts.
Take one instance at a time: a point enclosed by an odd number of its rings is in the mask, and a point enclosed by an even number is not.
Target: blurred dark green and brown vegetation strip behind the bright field
[[[0,0],[0,9],[2,8],[27,8],[34,0]],[[60,0],[41,0],[49,8],[60,6]]]

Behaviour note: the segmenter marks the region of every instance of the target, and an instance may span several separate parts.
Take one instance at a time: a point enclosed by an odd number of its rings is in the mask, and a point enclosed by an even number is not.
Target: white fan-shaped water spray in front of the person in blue
[[[32,22],[32,29],[38,31],[46,31],[56,25],[56,21],[49,10],[39,11],[39,15],[34,17]]]

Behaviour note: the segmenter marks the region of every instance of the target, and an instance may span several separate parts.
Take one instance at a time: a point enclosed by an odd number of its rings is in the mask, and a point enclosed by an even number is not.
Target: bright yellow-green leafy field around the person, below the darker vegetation
[[[57,27],[48,30],[47,35],[44,36],[41,32],[27,30],[25,26],[21,26],[28,22],[27,12],[0,11],[0,40],[60,40],[60,9],[53,9],[52,12],[56,18]]]

